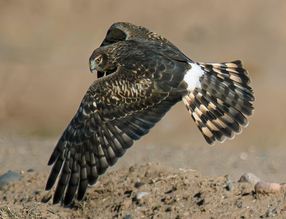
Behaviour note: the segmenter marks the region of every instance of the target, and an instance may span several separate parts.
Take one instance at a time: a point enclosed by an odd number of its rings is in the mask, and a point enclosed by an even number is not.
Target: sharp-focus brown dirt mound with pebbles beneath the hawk
[[[254,186],[227,177],[201,177],[192,170],[158,164],[125,167],[100,177],[83,201],[52,205],[48,173],[22,173],[1,188],[0,218],[282,218],[284,195],[256,194]],[[281,202],[282,201],[282,202]]]

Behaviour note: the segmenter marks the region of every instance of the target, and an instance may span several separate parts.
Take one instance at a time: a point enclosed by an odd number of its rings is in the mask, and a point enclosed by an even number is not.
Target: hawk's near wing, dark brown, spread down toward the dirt
[[[164,77],[171,73],[166,69],[156,68],[162,76],[161,82],[172,80]],[[47,190],[53,187],[60,174],[53,203],[59,203],[65,193],[64,204],[69,205],[77,190],[77,198],[82,200],[87,185],[96,183],[98,176],[114,165],[134,140],[146,135],[186,95],[186,86],[182,82],[166,92],[156,80],[124,67],[96,80],[49,159],[48,165],[53,167]]]

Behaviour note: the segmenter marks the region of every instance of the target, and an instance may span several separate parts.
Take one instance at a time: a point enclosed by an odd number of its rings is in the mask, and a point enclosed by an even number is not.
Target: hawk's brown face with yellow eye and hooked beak
[[[101,49],[101,47],[94,50],[92,55],[90,56],[90,72],[92,72],[93,70],[106,72],[107,65],[108,65],[108,56]]]

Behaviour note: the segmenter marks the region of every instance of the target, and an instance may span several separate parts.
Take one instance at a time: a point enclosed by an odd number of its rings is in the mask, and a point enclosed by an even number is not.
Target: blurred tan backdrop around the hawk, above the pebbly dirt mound
[[[11,169],[7,156],[32,150],[31,163],[49,170],[45,165],[58,137],[96,79],[89,57],[118,21],[156,31],[194,61],[243,60],[257,98],[243,133],[214,147],[179,103],[118,166],[159,161],[202,174],[257,171],[267,178],[271,172],[269,180],[285,180],[286,1],[267,0],[1,0],[2,169]],[[26,160],[14,160],[14,169]]]

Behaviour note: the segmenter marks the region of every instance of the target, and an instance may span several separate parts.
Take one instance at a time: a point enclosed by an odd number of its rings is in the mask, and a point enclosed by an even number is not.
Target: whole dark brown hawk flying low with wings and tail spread
[[[46,184],[59,180],[53,203],[82,200],[109,166],[183,101],[206,142],[233,139],[248,125],[255,101],[240,60],[194,62],[166,38],[130,23],[115,23],[90,57],[98,79],[88,88],[48,165]]]

